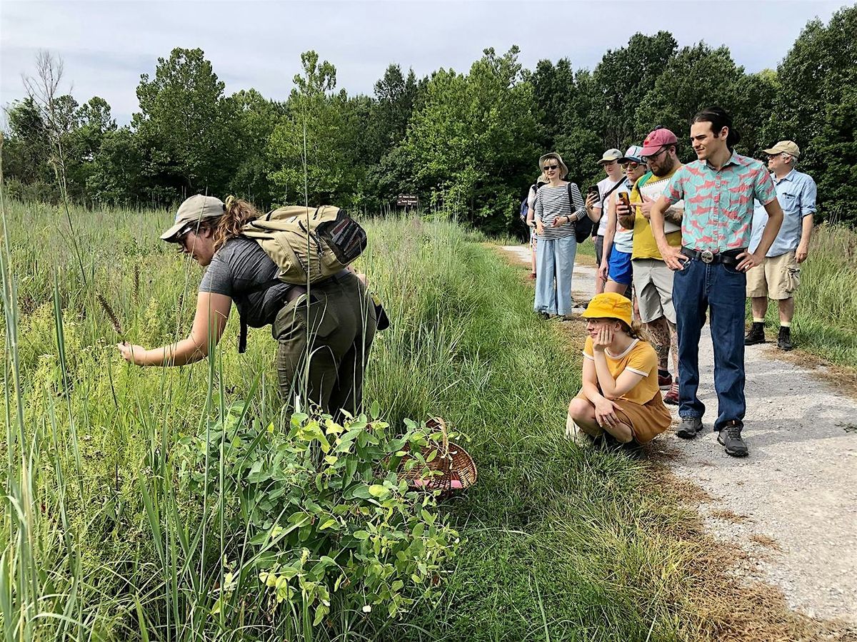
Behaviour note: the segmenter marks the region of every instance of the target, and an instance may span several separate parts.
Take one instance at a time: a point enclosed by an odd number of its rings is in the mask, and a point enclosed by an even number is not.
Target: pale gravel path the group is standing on
[[[504,249],[529,261],[526,247]],[[594,275],[589,266],[575,267],[575,300],[594,294]],[[746,348],[749,457],[726,455],[710,430],[717,398],[707,326],[699,398],[709,430],[692,441],[659,438],[679,452],[674,473],[713,498],[699,507],[711,532],[749,554],[741,573],[779,586],[788,605],[806,615],[857,622],[857,401],[811,366],[778,359],[774,341]]]

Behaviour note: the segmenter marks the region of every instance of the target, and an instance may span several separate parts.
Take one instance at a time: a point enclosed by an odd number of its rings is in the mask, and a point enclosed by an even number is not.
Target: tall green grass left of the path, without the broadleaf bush
[[[279,639],[289,609],[249,599],[240,620],[208,615],[230,507],[189,502],[170,458],[257,378],[250,412],[281,420],[269,333],[251,331],[237,355],[233,314],[213,360],[128,366],[96,294],[130,341],[186,334],[178,300],[195,299],[200,270],[158,240],[169,213],[72,211],[81,262],[56,208],[4,213],[4,638]],[[392,622],[334,610],[313,639],[698,639],[692,518],[644,463],[562,437],[579,357],[536,320],[521,271],[452,223],[367,228],[360,267],[393,326],[377,336],[366,396],[393,423],[446,418],[470,437],[480,477],[448,503],[466,543],[439,601]]]

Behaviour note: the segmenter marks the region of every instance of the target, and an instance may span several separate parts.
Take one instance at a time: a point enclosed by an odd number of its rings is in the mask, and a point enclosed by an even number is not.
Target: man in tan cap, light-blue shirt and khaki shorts
[[[794,291],[800,282],[800,264],[809,253],[816,187],[812,176],[794,169],[800,158],[800,147],[793,141],[781,140],[764,153],[768,155],[768,169],[776,185],[776,199],[780,201],[783,219],[780,232],[765,255],[764,263],[747,271],[747,297],[750,298],[752,309],[752,327],[744,337],[744,344],[752,346],[764,343],[764,315],[770,298],[776,300],[780,311],[780,332],[776,347],[791,350]],[[751,252],[758,246],[767,221],[764,207],[757,203],[753,211]]]

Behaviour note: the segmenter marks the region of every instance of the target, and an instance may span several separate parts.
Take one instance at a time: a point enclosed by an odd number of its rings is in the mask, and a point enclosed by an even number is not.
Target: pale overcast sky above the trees
[[[140,74],[174,47],[200,47],[226,92],[255,87],[283,99],[314,49],[336,66],[338,87],[372,93],[387,65],[418,76],[437,68],[466,72],[486,47],[511,45],[519,60],[571,59],[593,68],[604,51],[632,33],[673,33],[680,46],[704,40],[727,45],[747,71],[776,68],[806,25],[828,21],[849,3],[827,0],[727,2],[262,2],[261,0],[2,0],[0,103],[21,98],[21,74],[48,50],[65,63],[63,92],[79,103],[93,96],[111,104],[120,124],[137,110]]]

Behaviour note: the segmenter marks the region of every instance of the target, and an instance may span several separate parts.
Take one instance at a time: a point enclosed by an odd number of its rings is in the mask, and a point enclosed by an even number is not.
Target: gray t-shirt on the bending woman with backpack
[[[261,328],[273,323],[294,286],[279,282],[261,292],[247,292],[273,281],[278,274],[279,268],[256,241],[237,236],[214,254],[202,276],[200,292],[231,297],[241,318],[251,328]]]

